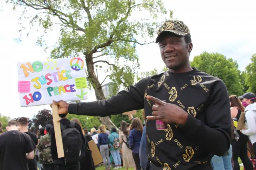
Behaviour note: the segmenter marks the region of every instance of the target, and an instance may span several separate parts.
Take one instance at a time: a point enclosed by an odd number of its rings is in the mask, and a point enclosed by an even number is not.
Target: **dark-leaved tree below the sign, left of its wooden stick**
[[[48,109],[38,111],[38,114],[32,118],[32,124],[36,128],[35,131],[39,129],[39,125],[42,127],[45,127],[47,124],[53,125],[52,112]]]

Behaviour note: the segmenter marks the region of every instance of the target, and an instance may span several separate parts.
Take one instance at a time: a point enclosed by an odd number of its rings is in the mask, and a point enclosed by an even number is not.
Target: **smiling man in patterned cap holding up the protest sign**
[[[227,88],[222,80],[191,68],[193,45],[182,21],[166,21],[157,34],[156,43],[168,71],[144,78],[110,99],[54,104],[59,114],[88,116],[144,108],[147,155],[153,170],[212,170],[212,156],[222,156],[230,147]]]

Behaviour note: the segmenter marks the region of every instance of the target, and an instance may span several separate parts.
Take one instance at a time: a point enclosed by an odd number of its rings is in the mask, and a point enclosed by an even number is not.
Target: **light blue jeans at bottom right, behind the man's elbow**
[[[212,157],[212,168],[214,170],[232,170],[232,146],[228,150],[227,156],[216,156]]]

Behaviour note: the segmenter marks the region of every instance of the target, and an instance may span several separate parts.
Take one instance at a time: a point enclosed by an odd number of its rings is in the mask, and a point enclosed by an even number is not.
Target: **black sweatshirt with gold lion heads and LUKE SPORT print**
[[[154,170],[212,170],[210,160],[230,148],[231,114],[227,88],[222,80],[193,68],[190,72],[164,72],[147,77],[110,99],[70,104],[70,114],[109,116],[145,109],[152,115],[151,95],[188,112],[186,124],[156,129],[146,120],[147,154]]]

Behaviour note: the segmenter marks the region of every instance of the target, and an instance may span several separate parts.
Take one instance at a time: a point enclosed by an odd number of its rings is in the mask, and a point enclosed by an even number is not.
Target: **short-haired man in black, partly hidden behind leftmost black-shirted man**
[[[38,140],[36,137],[36,134],[33,132],[28,131],[28,118],[21,117],[18,118],[18,123],[20,125],[20,132],[23,132],[25,134],[28,134],[35,145],[38,144]],[[32,160],[28,160],[28,169],[29,170],[37,170],[37,164],[36,164],[36,157]]]

